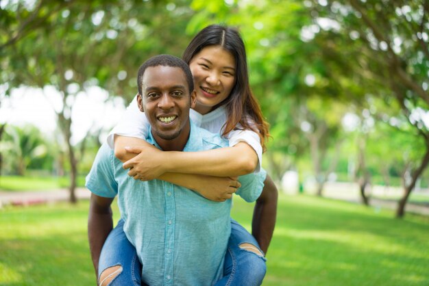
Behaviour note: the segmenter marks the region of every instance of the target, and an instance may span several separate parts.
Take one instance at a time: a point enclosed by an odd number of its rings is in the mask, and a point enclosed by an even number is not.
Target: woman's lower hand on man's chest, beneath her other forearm
[[[207,176],[204,181],[195,181],[197,183],[192,190],[195,190],[204,198],[215,202],[224,202],[232,198],[241,183],[237,177],[212,177]]]

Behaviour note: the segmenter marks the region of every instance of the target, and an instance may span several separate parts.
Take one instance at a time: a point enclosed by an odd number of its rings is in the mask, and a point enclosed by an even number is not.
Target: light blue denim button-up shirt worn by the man
[[[149,132],[147,142],[156,144]],[[228,146],[228,141],[191,123],[183,151]],[[236,194],[247,202],[262,192],[265,172],[239,178]],[[215,203],[196,192],[160,180],[136,181],[107,144],[97,153],[86,187],[98,196],[118,195],[124,231],[143,265],[149,285],[212,285],[223,276],[230,237],[231,200]]]

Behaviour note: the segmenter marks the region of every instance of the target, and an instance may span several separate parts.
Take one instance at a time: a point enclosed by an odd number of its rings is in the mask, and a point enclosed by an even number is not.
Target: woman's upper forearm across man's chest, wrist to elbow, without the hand
[[[169,172],[208,174],[211,176],[241,176],[254,172],[258,155],[247,143],[199,152],[169,152]]]

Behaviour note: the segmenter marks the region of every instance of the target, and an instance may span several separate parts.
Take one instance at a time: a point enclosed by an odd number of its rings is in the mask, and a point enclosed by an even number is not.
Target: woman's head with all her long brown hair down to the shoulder
[[[260,135],[264,146],[269,135],[260,106],[249,86],[245,44],[236,29],[223,25],[205,27],[183,53],[191,67],[197,91],[197,112],[206,114],[224,105],[228,119],[223,135],[240,124]]]

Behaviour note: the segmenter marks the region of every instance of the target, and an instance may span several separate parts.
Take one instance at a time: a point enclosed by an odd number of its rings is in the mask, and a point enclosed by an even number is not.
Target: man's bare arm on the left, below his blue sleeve
[[[97,280],[101,248],[113,229],[112,209],[110,207],[112,201],[113,198],[103,198],[96,194],[91,194],[90,198],[88,240]]]

